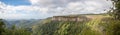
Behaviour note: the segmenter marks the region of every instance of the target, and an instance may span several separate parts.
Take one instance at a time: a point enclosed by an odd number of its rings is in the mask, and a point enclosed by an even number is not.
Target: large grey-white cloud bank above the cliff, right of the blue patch
[[[48,7],[50,13],[101,13],[112,6],[106,0],[30,0],[32,5]],[[56,11],[57,8],[62,10]],[[52,12],[51,12],[52,10]],[[56,11],[56,12],[55,12]]]

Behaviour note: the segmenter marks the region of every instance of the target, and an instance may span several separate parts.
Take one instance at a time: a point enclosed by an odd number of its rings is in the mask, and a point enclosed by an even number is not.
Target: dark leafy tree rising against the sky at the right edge
[[[120,20],[120,0],[112,0],[113,1],[113,5],[114,5],[114,9],[112,9],[112,16],[115,19]]]

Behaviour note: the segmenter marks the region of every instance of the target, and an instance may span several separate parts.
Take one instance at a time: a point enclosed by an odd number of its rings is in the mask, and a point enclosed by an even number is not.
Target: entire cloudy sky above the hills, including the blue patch
[[[0,19],[44,19],[71,14],[106,13],[110,0],[0,0]]]

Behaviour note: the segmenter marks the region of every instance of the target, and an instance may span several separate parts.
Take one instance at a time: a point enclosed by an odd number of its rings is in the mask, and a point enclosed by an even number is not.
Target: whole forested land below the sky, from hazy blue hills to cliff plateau
[[[120,35],[120,20],[101,14],[53,16],[42,20],[7,22],[17,25],[5,29],[4,34],[9,35]]]

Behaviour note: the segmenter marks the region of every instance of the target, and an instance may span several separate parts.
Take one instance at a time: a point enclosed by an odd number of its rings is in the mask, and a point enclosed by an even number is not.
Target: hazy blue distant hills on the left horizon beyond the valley
[[[30,28],[31,26],[40,23],[41,19],[30,19],[30,20],[3,20],[7,27],[22,27],[22,28]]]

